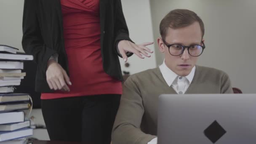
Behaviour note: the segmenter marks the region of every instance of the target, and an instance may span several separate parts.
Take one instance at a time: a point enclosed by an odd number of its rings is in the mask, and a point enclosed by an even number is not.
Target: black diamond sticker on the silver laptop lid
[[[213,144],[216,143],[227,131],[215,120],[208,128],[205,129],[205,136],[210,139]]]

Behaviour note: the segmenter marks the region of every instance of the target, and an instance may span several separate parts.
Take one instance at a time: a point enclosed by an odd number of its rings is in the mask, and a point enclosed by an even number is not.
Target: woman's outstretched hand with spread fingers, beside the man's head
[[[143,43],[143,44],[137,45],[135,43],[132,43],[129,40],[121,40],[118,43],[117,47],[118,47],[118,50],[119,50],[121,56],[123,57],[124,61],[126,62],[128,57],[126,56],[125,53],[127,53],[127,52],[134,53],[137,56],[139,56],[141,59],[144,59],[144,56],[150,57],[150,55],[147,52],[153,53],[153,51],[151,51],[146,46],[147,45],[152,45],[152,44],[153,44],[153,42]]]

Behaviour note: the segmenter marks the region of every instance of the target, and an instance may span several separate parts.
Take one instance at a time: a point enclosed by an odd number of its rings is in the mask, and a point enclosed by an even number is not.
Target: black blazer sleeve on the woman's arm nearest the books
[[[43,42],[37,18],[37,4],[38,0],[24,0],[22,47],[25,53],[34,56],[34,61],[45,74],[47,61],[56,51]]]

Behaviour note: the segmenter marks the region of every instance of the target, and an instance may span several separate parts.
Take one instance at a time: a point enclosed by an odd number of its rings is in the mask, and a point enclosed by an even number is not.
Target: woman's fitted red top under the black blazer
[[[70,92],[42,93],[41,99],[122,94],[122,84],[103,70],[99,0],[61,0]]]

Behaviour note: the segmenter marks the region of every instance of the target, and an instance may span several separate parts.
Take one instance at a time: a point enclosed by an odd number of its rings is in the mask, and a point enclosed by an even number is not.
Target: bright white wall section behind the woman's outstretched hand
[[[122,0],[123,13],[128,25],[131,39],[137,43],[153,42],[153,29],[149,0]],[[123,59],[120,59],[121,68],[131,74],[156,67],[155,47],[148,46],[154,53],[151,57],[140,59],[135,54],[128,58],[129,68],[124,67]]]

